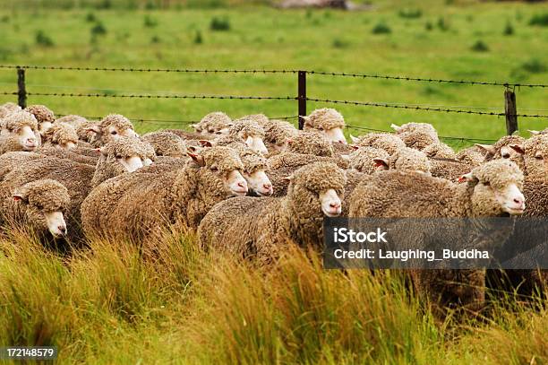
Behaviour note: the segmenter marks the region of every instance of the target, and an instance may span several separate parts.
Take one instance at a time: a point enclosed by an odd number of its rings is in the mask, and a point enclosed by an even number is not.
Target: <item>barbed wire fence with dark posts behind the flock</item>
[[[508,135],[513,134],[518,130],[518,117],[527,118],[546,118],[548,114],[541,113],[518,113],[516,103],[516,89],[545,89],[548,84],[542,83],[509,83],[509,82],[493,82],[493,81],[470,81],[470,80],[449,80],[439,78],[421,78],[410,76],[383,75],[383,74],[352,74],[339,72],[323,72],[323,71],[305,71],[305,70],[245,70],[245,69],[191,69],[191,68],[132,68],[132,67],[81,67],[81,66],[58,66],[58,65],[0,65],[0,69],[13,69],[17,72],[17,91],[2,91],[0,95],[13,95],[17,97],[18,104],[21,108],[26,108],[29,97],[51,97],[51,98],[118,98],[118,99],[174,99],[174,100],[295,100],[297,103],[297,113],[295,116],[272,117],[276,119],[298,119],[299,129],[303,128],[304,116],[307,115],[307,101],[320,102],[323,104],[349,105],[355,107],[370,107],[370,108],[385,108],[385,109],[407,109],[434,113],[455,113],[467,114],[484,117],[505,117],[506,131]],[[295,74],[297,76],[297,94],[295,96],[258,96],[258,95],[186,95],[178,94],[171,91],[117,91],[112,90],[84,88],[92,91],[104,92],[29,92],[27,91],[26,70],[57,70],[57,71],[73,71],[73,72],[122,72],[122,73],[173,73],[173,74]],[[496,86],[504,88],[504,112],[493,111],[493,109],[501,109],[497,107],[469,107],[469,106],[444,106],[444,105],[427,105],[427,104],[407,104],[393,102],[373,102],[373,101],[357,101],[357,100],[330,100],[309,97],[307,94],[307,76],[323,76],[323,77],[344,77],[357,79],[383,79],[394,80],[400,82],[415,82],[415,83],[453,83],[461,85],[474,86]],[[36,86],[36,85],[35,85]],[[62,86],[62,85],[39,85],[57,89],[82,89],[80,86]],[[161,92],[160,94],[152,94],[151,92]],[[484,111],[489,110],[489,111]],[[548,111],[548,109],[526,109],[536,112]],[[63,115],[61,115],[63,116]],[[99,119],[97,116],[83,116],[90,119]],[[156,119],[156,118],[130,118],[135,122],[147,122],[153,124],[183,124],[190,125],[197,123],[198,120],[174,120],[174,119]],[[348,128],[356,131],[367,132],[389,132],[386,130],[370,128],[366,126],[347,125]],[[460,141],[471,143],[492,143],[492,139],[482,139],[470,136],[443,136],[441,139],[448,141]]]

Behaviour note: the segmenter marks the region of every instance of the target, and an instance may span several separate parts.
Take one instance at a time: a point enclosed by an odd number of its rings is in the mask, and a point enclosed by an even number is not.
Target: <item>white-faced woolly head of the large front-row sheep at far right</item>
[[[523,174],[511,161],[491,161],[463,176],[474,189],[471,197],[475,216],[521,214],[525,210]]]

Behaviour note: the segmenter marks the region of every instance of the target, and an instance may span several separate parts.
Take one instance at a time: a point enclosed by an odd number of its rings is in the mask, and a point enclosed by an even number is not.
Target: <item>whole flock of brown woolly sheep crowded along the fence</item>
[[[204,249],[268,265],[288,243],[320,251],[324,216],[548,213],[548,131],[454,152],[429,124],[392,125],[394,134],[351,143],[344,127],[335,109],[314,110],[303,131],[261,114],[213,112],[194,132],[139,136],[121,115],[56,118],[42,105],[6,103],[0,223],[70,242],[142,241],[178,224],[197,231]],[[542,271],[516,274],[531,287],[548,282]],[[417,291],[444,304],[484,300],[484,271],[411,276]]]

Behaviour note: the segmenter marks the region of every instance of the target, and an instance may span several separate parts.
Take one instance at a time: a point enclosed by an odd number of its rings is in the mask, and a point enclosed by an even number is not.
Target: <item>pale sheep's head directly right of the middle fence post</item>
[[[343,134],[345,118],[335,109],[322,108],[314,110],[304,118],[303,129],[325,135],[333,143],[347,143]]]

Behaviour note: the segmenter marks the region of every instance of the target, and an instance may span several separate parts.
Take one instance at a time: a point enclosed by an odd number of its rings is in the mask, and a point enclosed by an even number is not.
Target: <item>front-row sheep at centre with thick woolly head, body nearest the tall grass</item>
[[[321,252],[323,217],[341,213],[345,171],[330,162],[313,162],[295,173],[287,196],[235,197],[215,205],[198,229],[203,248],[269,264],[288,242]]]

